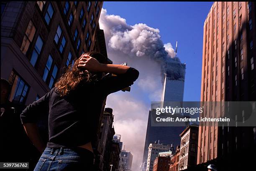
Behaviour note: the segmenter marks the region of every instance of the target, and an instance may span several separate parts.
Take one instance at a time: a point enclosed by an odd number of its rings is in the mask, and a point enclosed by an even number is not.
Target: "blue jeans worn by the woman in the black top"
[[[34,171],[92,171],[94,154],[83,148],[45,148]]]

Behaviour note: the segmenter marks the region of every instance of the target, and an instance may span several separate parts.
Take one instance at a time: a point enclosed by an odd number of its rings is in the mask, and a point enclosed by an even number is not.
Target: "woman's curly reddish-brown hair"
[[[77,60],[75,60],[74,65],[69,65],[65,73],[61,75],[59,80],[55,83],[55,87],[58,89],[61,97],[69,95],[71,91],[74,91],[77,85],[81,82],[91,82],[96,81],[99,78],[99,75],[102,73],[92,73],[88,70],[81,70],[78,68],[79,59],[83,55],[89,55],[92,58],[97,59],[100,63],[106,63],[106,57],[101,53],[96,51],[83,53]]]

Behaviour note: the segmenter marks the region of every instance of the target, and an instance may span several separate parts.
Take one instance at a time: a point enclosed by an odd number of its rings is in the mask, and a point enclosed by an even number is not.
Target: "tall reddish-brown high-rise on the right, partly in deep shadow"
[[[213,3],[204,23],[201,101],[256,101],[255,8],[254,2]],[[255,127],[200,125],[197,163],[249,153],[255,133]]]

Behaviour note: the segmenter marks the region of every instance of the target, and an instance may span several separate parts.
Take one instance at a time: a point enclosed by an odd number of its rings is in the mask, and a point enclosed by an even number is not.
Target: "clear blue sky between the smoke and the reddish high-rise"
[[[145,23],[160,30],[163,43],[178,41],[178,56],[187,64],[184,101],[200,101],[203,25],[212,2],[104,2],[108,14],[127,24]],[[175,48],[175,47],[174,47]]]

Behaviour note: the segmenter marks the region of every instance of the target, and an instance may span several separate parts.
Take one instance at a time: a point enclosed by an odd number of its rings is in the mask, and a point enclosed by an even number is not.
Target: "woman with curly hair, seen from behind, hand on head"
[[[35,171],[92,170],[93,144],[102,111],[110,94],[133,84],[138,70],[105,64],[97,52],[84,53],[69,66],[45,96],[20,114],[28,137],[42,153]],[[116,76],[102,77],[103,73]],[[36,125],[37,113],[49,113],[49,142],[43,143]]]

